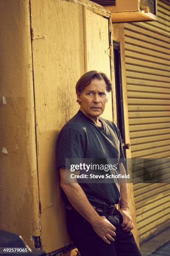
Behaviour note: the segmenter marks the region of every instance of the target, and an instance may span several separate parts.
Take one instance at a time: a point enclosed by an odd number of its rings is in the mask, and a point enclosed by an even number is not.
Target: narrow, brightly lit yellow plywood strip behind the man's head
[[[97,70],[104,72],[110,77],[110,51],[109,51],[109,23],[91,10],[85,8],[84,29],[86,33],[86,70]],[[113,120],[112,116],[112,95],[109,94],[109,101],[106,104],[102,117]]]

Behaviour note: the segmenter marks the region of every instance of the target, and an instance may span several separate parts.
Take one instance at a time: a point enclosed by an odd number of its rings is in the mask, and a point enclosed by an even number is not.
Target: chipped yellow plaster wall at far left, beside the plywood
[[[39,236],[29,0],[0,1],[0,228]]]

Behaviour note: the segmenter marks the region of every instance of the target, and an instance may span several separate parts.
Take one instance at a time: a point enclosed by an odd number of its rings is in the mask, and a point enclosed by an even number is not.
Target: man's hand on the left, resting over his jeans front
[[[113,237],[115,234],[115,226],[113,226],[105,216],[100,216],[95,222],[91,223],[92,228],[95,230],[98,236],[102,238],[105,243],[110,244],[110,241],[115,241]]]

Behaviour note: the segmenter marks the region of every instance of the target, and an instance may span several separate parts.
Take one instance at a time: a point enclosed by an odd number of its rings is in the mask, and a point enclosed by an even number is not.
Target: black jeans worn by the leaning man
[[[105,243],[93,230],[92,225],[74,208],[66,209],[68,233],[81,256],[141,256],[133,234],[122,230],[122,215],[115,209],[112,215],[98,212],[116,228],[115,241]]]

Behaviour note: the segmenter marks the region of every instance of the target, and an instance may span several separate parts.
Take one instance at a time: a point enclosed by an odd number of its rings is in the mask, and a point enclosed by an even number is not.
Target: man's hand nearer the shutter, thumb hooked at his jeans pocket
[[[132,217],[130,215],[130,211],[128,208],[120,208],[119,209],[122,218],[123,218],[123,222],[121,224],[121,227],[123,230],[125,231],[130,231],[131,229],[133,229],[133,220]]]

